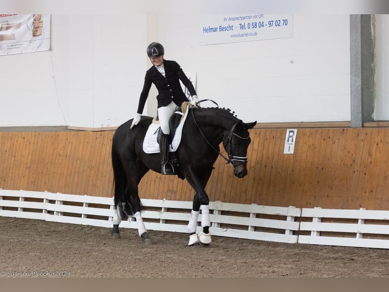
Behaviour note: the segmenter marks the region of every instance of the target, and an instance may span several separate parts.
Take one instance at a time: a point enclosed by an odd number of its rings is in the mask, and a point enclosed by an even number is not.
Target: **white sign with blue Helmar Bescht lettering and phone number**
[[[200,45],[293,37],[293,14],[200,15]]]

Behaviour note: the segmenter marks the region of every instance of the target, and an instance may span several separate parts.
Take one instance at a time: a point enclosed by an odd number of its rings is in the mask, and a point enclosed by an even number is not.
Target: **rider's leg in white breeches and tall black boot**
[[[169,119],[176,110],[176,104],[172,101],[169,105],[158,108],[159,124],[162,130],[159,139],[159,151],[161,159],[161,173],[174,174],[172,164],[169,163],[170,128]]]

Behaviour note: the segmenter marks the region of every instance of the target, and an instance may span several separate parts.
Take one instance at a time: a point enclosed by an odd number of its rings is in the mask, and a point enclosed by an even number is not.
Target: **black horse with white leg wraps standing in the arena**
[[[189,108],[182,130],[180,145],[175,152],[179,160],[176,174],[186,179],[195,190],[193,206],[188,224],[189,244],[209,244],[209,198],[205,187],[211,176],[213,165],[221,155],[219,144],[228,158],[223,158],[234,166],[234,174],[243,178],[247,174],[247,148],[251,141],[248,130],[256,122],[243,123],[234,112],[219,107]],[[143,140],[152,118],[142,116],[141,121],[130,129],[132,120],[119,126],[112,138],[112,166],[115,181],[115,216],[112,234],[119,235],[119,223],[122,215],[133,216],[138,223],[139,236],[144,243],[150,243],[147,230],[141,216],[141,201],[138,184],[146,172],[151,169],[160,172],[159,154],[146,154],[143,151]],[[222,155],[221,155],[222,156]],[[199,210],[202,210],[203,231],[196,234]]]

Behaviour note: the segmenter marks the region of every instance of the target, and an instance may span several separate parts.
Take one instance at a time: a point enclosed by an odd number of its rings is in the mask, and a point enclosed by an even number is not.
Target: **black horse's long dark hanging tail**
[[[113,179],[114,179],[114,204],[115,208],[118,207],[119,203],[124,203],[124,214],[126,216],[134,215],[133,208],[131,206],[130,193],[128,188],[127,177],[123,165],[117,155],[116,151],[112,147],[112,168],[113,168]]]

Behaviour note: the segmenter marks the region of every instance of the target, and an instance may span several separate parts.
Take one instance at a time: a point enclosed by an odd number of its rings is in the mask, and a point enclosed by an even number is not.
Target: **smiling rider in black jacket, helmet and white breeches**
[[[175,61],[164,59],[165,49],[160,43],[153,42],[147,47],[147,55],[153,66],[146,71],[143,90],[139,98],[137,114],[131,124],[131,129],[138,125],[141,120],[141,114],[150,91],[151,84],[154,83],[158,90],[158,119],[161,128],[159,138],[159,151],[161,159],[161,173],[174,174],[174,169],[169,163],[169,145],[170,145],[170,128],[169,119],[176,110],[176,105],[188,101],[181,89],[179,80],[185,85],[191,95],[191,105],[196,106],[198,97],[192,82],[186,77],[180,65]]]

